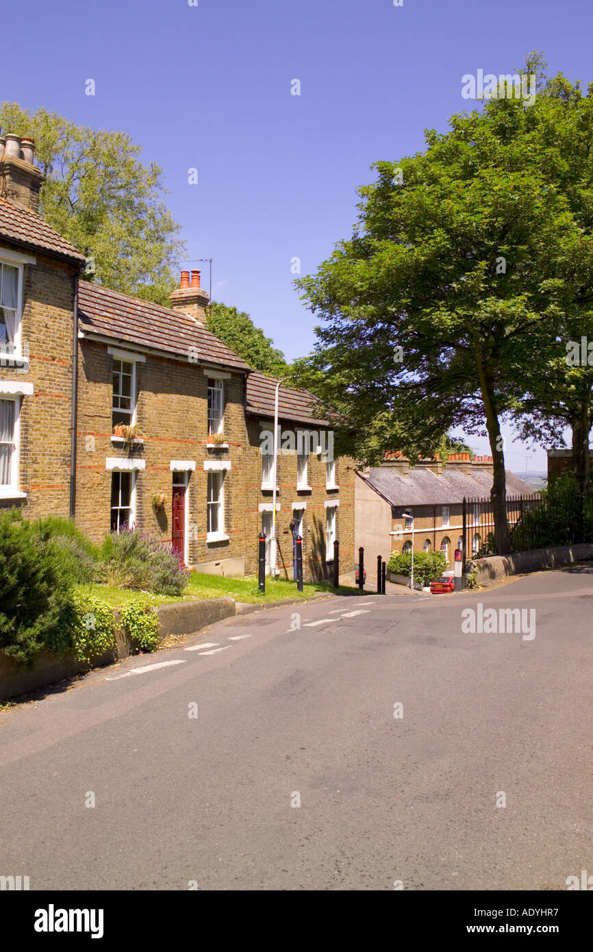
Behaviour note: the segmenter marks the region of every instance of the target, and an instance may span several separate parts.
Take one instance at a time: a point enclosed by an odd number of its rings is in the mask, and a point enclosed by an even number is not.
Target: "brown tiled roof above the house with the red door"
[[[90,281],[81,281],[78,286],[78,314],[85,334],[164,350],[185,360],[191,353],[200,363],[249,369],[241,357],[187,314]]]

